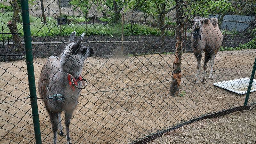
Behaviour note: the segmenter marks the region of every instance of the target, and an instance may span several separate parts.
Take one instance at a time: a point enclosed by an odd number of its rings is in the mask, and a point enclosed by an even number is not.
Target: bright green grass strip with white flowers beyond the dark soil
[[[21,17],[20,17],[21,18]],[[30,28],[31,36],[69,36],[73,31],[76,31],[78,35],[86,32],[86,35],[121,35],[122,34],[122,25],[115,25],[111,27],[109,25],[103,24],[87,24],[87,29],[85,24],[74,24],[76,22],[84,22],[85,19],[82,17],[77,17],[74,23],[69,23],[67,25],[62,25],[62,31],[60,32],[60,26],[56,25],[56,20],[54,18],[46,18],[47,23],[42,23],[41,18],[30,16]],[[0,31],[7,32],[7,22],[12,20],[12,12],[0,13]],[[22,18],[20,19],[22,21]],[[3,29],[1,27],[3,26]],[[22,24],[17,23],[17,28],[20,36],[23,36]],[[125,24],[124,25],[124,35],[153,35],[160,36],[160,30],[157,28],[152,28],[148,25],[142,24]],[[166,31],[166,36],[174,36],[174,30]],[[4,35],[4,39],[11,38],[11,36]],[[0,39],[3,39],[0,36]]]

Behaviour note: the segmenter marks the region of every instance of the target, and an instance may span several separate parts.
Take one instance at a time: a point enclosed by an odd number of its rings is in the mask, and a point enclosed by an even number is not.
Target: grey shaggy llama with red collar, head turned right
[[[75,42],[76,32],[69,38],[69,42],[60,57],[50,56],[44,64],[38,81],[38,91],[44,98],[44,105],[49,113],[52,129],[53,144],[57,142],[57,131],[64,136],[61,125],[61,111],[65,112],[65,126],[67,132],[67,143],[71,144],[69,136],[69,124],[81,89],[78,89],[82,81],[81,72],[84,60],[94,54],[91,48],[81,44],[84,38],[82,34]],[[84,81],[82,81],[84,82]],[[81,84],[80,87],[81,88]],[[60,125],[60,127],[59,127]]]

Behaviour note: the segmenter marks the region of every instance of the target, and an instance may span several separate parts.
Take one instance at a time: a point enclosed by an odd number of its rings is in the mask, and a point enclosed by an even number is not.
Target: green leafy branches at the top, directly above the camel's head
[[[195,4],[192,4],[188,8],[189,14],[191,16],[201,16],[205,17],[209,14],[225,14],[228,12],[234,12],[235,8],[227,0],[217,0],[217,1],[205,1],[199,0],[195,1]]]

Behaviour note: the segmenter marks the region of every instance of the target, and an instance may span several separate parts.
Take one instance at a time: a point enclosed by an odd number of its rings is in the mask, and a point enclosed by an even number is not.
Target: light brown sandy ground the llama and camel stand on
[[[206,84],[191,84],[196,74],[196,59],[192,53],[184,53],[180,84],[184,96],[178,97],[168,95],[173,54],[93,56],[82,70],[89,84],[82,90],[71,120],[71,140],[131,143],[198,116],[241,106],[245,95],[225,91],[212,83],[250,77],[255,55],[256,49],[219,52],[214,79],[207,77]],[[34,59],[36,85],[45,61],[45,58]],[[26,99],[29,96],[26,62],[0,65],[0,141],[34,143],[30,100]],[[256,101],[255,96],[252,92],[249,104]],[[43,143],[52,143],[50,120],[40,99],[38,109]],[[58,140],[66,142],[64,137],[58,136]]]

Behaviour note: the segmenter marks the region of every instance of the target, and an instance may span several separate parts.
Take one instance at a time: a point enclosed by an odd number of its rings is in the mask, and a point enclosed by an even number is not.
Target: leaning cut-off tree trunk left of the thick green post
[[[20,52],[23,50],[21,42],[20,42],[20,37],[18,35],[18,29],[17,29],[17,24],[16,22],[10,20],[7,23],[8,28],[10,29],[11,33],[15,33],[12,35],[14,46],[16,49],[18,49]]]

